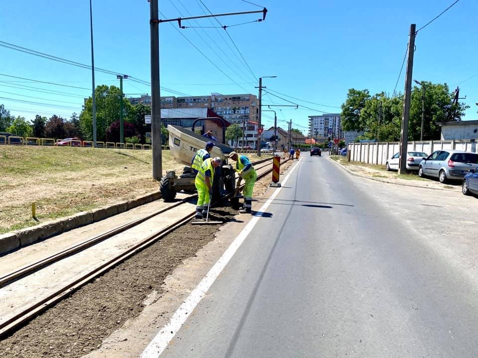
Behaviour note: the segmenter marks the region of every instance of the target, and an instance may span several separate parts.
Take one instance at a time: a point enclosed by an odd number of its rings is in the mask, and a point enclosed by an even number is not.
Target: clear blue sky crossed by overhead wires
[[[241,0],[203,2],[214,13],[259,9]],[[308,115],[340,112],[334,107],[344,102],[349,88],[369,89],[372,94],[382,90],[391,93],[405,54],[410,23],[420,28],[453,0],[251,2],[267,7],[266,20],[231,27],[228,32],[253,74],[241,63],[223,29],[188,28],[179,33],[176,23],[163,23],[160,25],[161,86],[189,95],[243,93],[244,89],[256,93],[256,78],[277,76],[264,79],[263,85],[317,103],[279,94],[317,109],[277,111],[279,125],[286,126],[284,121],[292,119],[295,127],[303,130],[307,127]],[[178,10],[188,16],[185,7],[193,15],[204,13],[199,0],[159,1],[160,11],[167,17],[179,16]],[[93,11],[95,65],[149,82],[149,3],[146,0],[93,0]],[[471,106],[464,118],[467,120],[478,119],[475,105],[478,102],[477,13],[478,1],[461,0],[421,30],[416,38],[413,70],[413,78],[419,81],[446,82],[451,88],[459,84],[461,96],[467,95],[464,101]],[[253,14],[219,20],[233,25],[259,17]],[[4,1],[0,41],[91,64],[89,21],[89,0]],[[189,25],[218,24],[214,19],[202,19]],[[0,76],[0,97],[42,103],[0,98],[0,103],[14,115],[32,119],[38,112],[69,117],[72,112],[81,111],[82,98],[91,94],[89,70],[4,47],[0,47],[0,58],[0,74],[75,87]],[[405,68],[397,86],[400,91],[404,88],[404,72]],[[119,86],[116,76],[99,72],[96,84]],[[150,88],[125,80],[124,92],[150,93]],[[171,93],[163,90],[161,95]],[[263,102],[287,104],[267,95]],[[265,126],[272,125],[271,114],[264,113]]]

